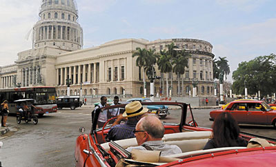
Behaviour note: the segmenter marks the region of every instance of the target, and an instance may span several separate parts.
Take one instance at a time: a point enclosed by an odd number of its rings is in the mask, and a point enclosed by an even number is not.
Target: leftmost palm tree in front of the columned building
[[[144,83],[144,97],[146,97],[146,80],[145,80],[145,67],[146,67],[146,61],[147,61],[147,50],[136,48],[136,52],[132,54],[132,57],[136,57],[136,66],[139,66],[140,68],[143,68],[143,83]]]

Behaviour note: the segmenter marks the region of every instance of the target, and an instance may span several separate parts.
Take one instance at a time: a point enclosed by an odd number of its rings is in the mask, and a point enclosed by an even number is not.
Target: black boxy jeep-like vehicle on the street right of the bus
[[[61,110],[62,108],[75,108],[81,107],[82,103],[79,100],[79,96],[63,96],[57,97],[57,108]]]

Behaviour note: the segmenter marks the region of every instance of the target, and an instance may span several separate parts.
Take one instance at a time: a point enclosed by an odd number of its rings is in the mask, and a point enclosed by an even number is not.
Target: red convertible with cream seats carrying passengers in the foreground
[[[110,125],[97,127],[100,110],[124,108],[126,104],[106,106],[92,112],[92,128],[81,135],[75,145],[75,165],[82,166],[276,166],[276,146],[246,148],[227,147],[202,150],[210,139],[210,128],[197,126],[190,106],[177,102],[145,102],[144,106],[166,105],[172,117],[162,119],[166,129],[163,141],[175,144],[182,153],[161,157],[155,151],[129,153],[126,148],[137,146],[135,138],[118,141],[105,141]],[[108,120],[110,121],[110,120]],[[108,121],[106,124],[108,124]],[[241,132],[247,141],[254,135]],[[268,139],[275,144],[276,139]],[[147,158],[147,160],[145,160]],[[254,160],[253,160],[254,159]]]

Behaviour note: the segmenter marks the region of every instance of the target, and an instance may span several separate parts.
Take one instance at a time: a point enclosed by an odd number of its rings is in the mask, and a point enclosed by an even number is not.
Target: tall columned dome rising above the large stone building
[[[63,50],[79,50],[83,46],[83,30],[74,0],[42,0],[40,20],[33,28],[33,48],[52,46]]]

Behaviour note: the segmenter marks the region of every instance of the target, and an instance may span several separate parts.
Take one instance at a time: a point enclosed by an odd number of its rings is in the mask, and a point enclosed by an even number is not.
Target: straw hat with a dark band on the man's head
[[[124,117],[135,117],[137,115],[143,115],[148,112],[148,108],[143,108],[139,101],[133,101],[126,105],[126,111],[124,112]]]

